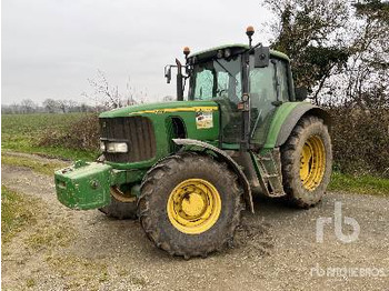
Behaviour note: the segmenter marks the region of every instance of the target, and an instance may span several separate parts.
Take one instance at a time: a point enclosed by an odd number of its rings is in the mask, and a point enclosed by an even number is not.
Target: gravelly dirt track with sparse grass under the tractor
[[[257,199],[233,249],[184,261],[156,249],[138,221],[66,209],[50,177],[2,165],[2,184],[41,199],[37,224],[2,249],[3,290],[389,290],[388,198],[328,193],[310,210]],[[333,218],[335,201],[358,221],[356,242],[340,242],[333,224],[316,242],[316,220]],[[365,275],[323,275],[327,268]]]

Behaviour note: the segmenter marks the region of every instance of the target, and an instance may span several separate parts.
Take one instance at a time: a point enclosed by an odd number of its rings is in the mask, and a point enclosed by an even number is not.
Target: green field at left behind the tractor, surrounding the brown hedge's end
[[[62,147],[39,147],[43,134],[52,130],[66,131],[86,113],[36,113],[1,116],[1,150],[44,154],[70,160],[94,160],[97,152],[66,149]]]

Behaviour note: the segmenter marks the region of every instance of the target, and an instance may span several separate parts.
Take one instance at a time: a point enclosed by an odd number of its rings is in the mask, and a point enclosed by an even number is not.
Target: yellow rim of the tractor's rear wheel
[[[312,136],[303,144],[300,157],[300,179],[302,185],[313,191],[321,183],[325,170],[325,144],[318,136]]]

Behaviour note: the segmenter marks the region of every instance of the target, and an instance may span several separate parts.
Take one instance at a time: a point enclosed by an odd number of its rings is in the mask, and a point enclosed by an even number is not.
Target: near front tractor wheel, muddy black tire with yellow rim
[[[243,191],[226,163],[177,153],[151,168],[140,190],[138,215],[158,248],[189,259],[232,244]]]

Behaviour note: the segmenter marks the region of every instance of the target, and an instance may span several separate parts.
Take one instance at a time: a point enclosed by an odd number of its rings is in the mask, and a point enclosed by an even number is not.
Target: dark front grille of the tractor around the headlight
[[[124,141],[128,152],[104,152],[110,162],[139,162],[156,155],[156,136],[148,118],[102,118],[100,119],[102,141]]]

